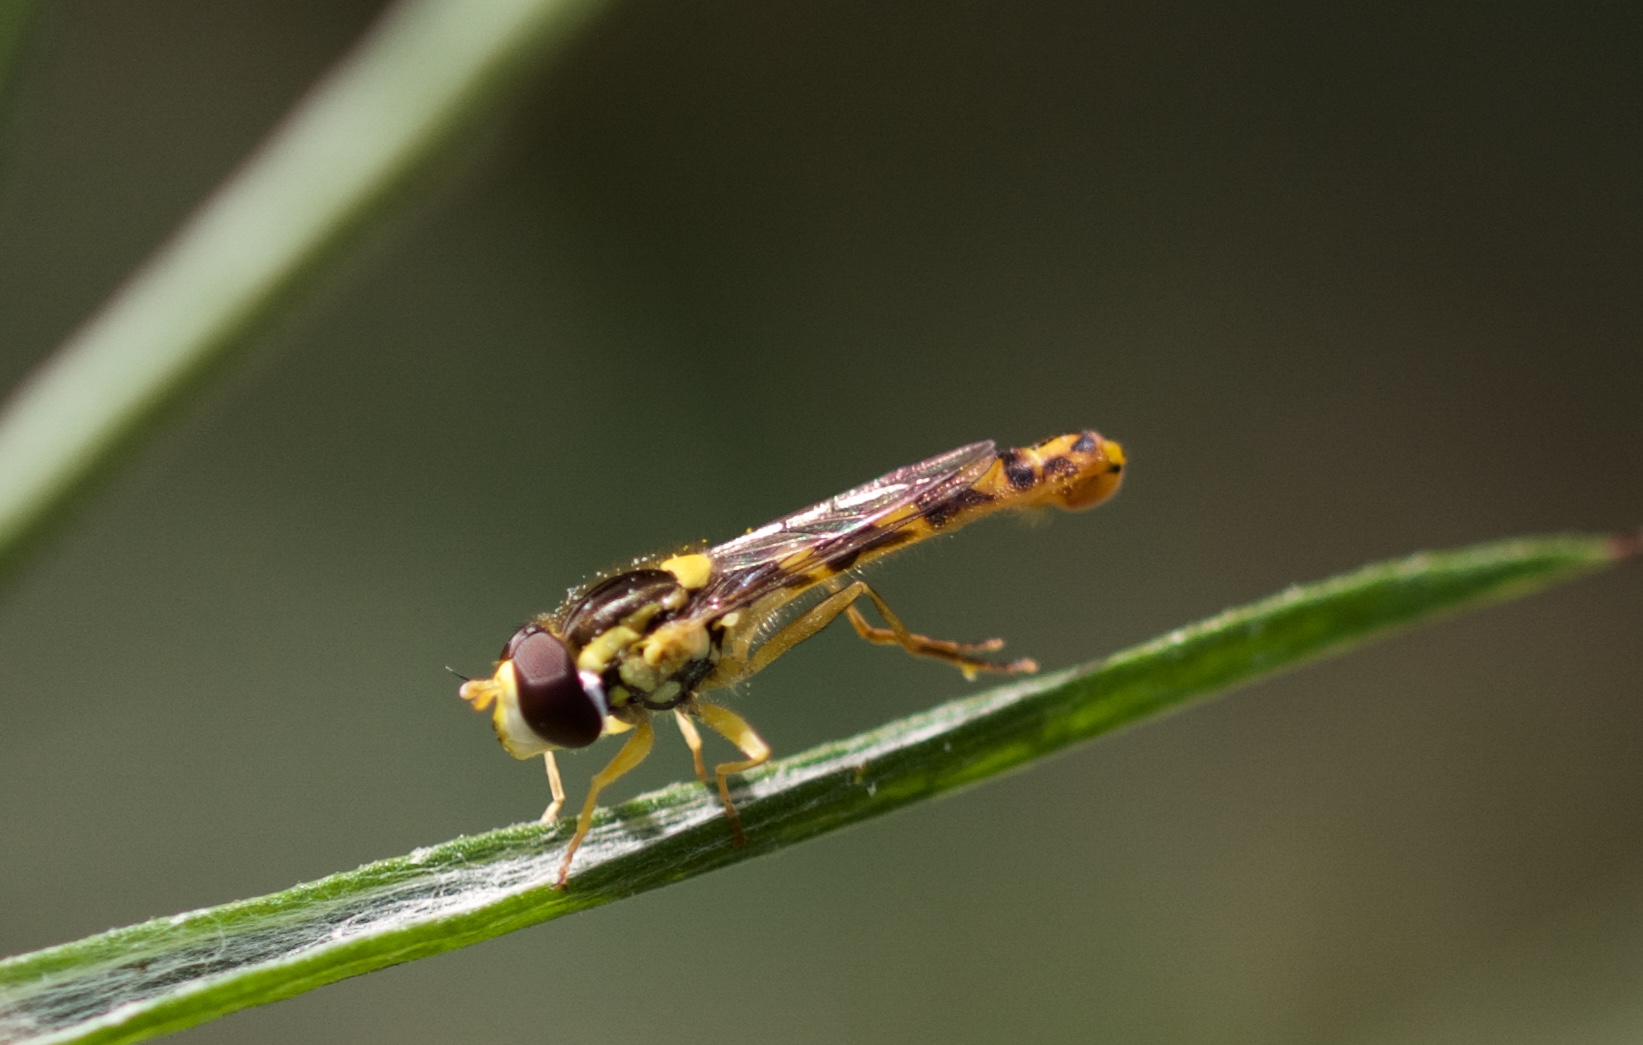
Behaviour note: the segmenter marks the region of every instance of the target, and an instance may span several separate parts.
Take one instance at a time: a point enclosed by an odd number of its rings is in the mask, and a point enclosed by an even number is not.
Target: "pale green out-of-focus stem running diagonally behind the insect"
[[[391,8],[7,403],[0,572],[598,5],[404,0]],[[0,0],[0,30],[20,26],[28,8]],[[8,43],[0,36],[0,46]]]

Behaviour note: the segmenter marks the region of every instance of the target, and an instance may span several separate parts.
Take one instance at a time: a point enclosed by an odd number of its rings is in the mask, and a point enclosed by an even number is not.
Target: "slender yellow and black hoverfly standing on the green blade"
[[[743,845],[728,777],[766,762],[771,748],[741,715],[702,700],[702,693],[759,674],[840,615],[863,639],[946,661],[966,679],[976,672],[1037,670],[1030,659],[991,659],[987,654],[1004,646],[1002,639],[950,642],[914,634],[877,592],[846,575],[1006,508],[1093,508],[1117,491],[1122,472],[1124,449],[1089,430],[1004,452],[992,442],[974,442],[734,541],[637,559],[626,570],[573,590],[559,610],[519,628],[503,647],[496,672],[463,682],[462,698],[476,711],[491,710],[508,754],[544,757],[554,792],[544,823],[554,823],[565,803],[554,753],[631,731],[588,787],[557,886],[564,887],[570,874],[600,792],[651,753],[656,711],[674,713],[703,784],[710,779],[697,721],[741,749],[744,759],[716,766],[713,782],[731,838]],[[808,606],[797,601],[812,593],[820,598]],[[872,603],[882,628],[869,624],[856,608],[863,598]]]

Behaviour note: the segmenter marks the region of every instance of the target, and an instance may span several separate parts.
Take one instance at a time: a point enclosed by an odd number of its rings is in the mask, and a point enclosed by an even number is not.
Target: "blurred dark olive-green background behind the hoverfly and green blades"
[[[49,8],[0,156],[7,384],[378,13]],[[0,951],[536,817],[447,664],[974,439],[1132,455],[1093,514],[874,570],[1050,667],[1643,522],[1640,33],[623,0],[5,593]],[[969,692],[835,631],[736,700],[780,754]],[[1633,1042],[1640,634],[1617,570],[181,1040]],[[667,739],[619,797],[688,776]]]

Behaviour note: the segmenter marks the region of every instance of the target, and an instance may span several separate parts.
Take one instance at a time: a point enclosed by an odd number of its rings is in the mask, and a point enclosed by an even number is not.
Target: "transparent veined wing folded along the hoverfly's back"
[[[945,504],[976,483],[994,460],[992,440],[973,442],[708,549],[713,580],[697,605],[728,613],[782,588],[797,595],[848,570],[863,552],[894,544],[923,508]]]

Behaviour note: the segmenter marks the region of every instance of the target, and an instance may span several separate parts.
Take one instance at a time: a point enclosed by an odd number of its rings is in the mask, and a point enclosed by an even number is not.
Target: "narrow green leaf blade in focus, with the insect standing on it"
[[[1526,595],[1638,552],[1528,537],[1364,567],[1102,662],[953,700],[746,774],[744,848],[698,784],[601,810],[554,891],[570,825],[457,838],[284,892],[0,961],[0,1042],[136,1042],[345,976],[774,853],[1070,744],[1341,652],[1423,618]]]

